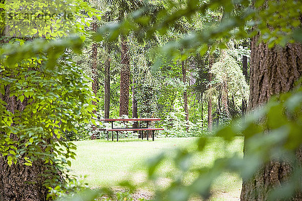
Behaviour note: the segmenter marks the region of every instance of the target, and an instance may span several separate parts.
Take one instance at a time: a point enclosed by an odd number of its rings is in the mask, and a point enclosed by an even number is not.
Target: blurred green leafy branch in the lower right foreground
[[[236,172],[240,173],[243,179],[247,179],[266,162],[282,158],[292,165],[293,174],[286,183],[271,191],[270,200],[289,198],[296,190],[302,189],[302,183],[297,176],[302,173],[302,169],[295,157],[295,151],[302,143],[301,107],[302,86],[301,82],[298,82],[295,89],[273,97],[267,106],[247,115],[245,120],[234,122],[214,133],[213,136],[223,139],[225,146],[231,146],[238,136],[245,135],[245,148],[248,152],[244,158],[241,153],[235,153],[231,157],[216,159],[209,166],[192,166],[192,157],[204,152],[205,146],[211,146],[210,137],[202,137],[196,141],[197,146],[194,148],[176,150],[174,157],[168,158],[162,153],[149,159],[147,177],[141,186],[157,186],[154,200],[183,201],[196,196],[209,198],[213,181],[222,173]],[[163,173],[161,165],[166,160],[173,168]],[[186,179],[188,176],[194,177],[190,183]],[[168,182],[160,185],[162,180]],[[136,186],[131,179],[121,182],[120,185],[128,188],[129,192],[141,187]],[[95,196],[91,199],[84,196],[85,198],[78,200],[94,200],[95,197],[106,194],[106,191],[101,190],[99,195],[96,191],[84,193]],[[126,197],[125,200],[129,199]]]

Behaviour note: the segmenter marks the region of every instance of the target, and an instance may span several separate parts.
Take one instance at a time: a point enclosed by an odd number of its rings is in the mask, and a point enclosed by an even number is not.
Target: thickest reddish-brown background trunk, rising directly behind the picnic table
[[[129,86],[130,86],[130,60],[126,39],[121,36],[121,82],[120,82],[120,110],[119,116],[128,115]]]

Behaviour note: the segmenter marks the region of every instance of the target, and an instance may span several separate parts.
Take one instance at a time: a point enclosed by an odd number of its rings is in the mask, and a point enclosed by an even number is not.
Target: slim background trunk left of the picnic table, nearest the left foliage
[[[92,23],[92,31],[97,32],[98,24],[96,22],[96,19],[94,19]],[[99,90],[99,76],[98,76],[98,44],[93,43],[92,44],[92,91],[94,92],[95,96],[98,94]],[[92,105],[97,106],[97,102],[92,102]],[[96,114],[96,111],[93,111],[94,114]],[[95,131],[96,131],[96,125],[91,125],[92,128],[92,136],[91,139],[96,139],[95,137]]]

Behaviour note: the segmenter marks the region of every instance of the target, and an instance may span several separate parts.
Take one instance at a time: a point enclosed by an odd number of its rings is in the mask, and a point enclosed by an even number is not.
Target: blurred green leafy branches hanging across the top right
[[[261,33],[262,39],[270,44],[285,45],[287,42],[301,41],[299,37],[301,33],[299,15],[301,5],[296,1],[279,1],[278,3],[270,1],[267,7],[261,7],[264,1],[257,1],[254,9],[249,7],[250,1],[203,1],[190,0],[188,2],[175,3],[168,1],[167,7],[156,12],[154,17],[157,18],[156,23],[152,27],[148,27],[147,23],[141,24],[142,20],[148,20],[148,14],[144,12],[145,8],[133,13],[125,21],[118,25],[108,25],[100,30],[96,38],[102,40],[104,33],[110,32],[109,40],[114,40],[117,33],[128,34],[130,31],[140,32],[141,27],[147,36],[152,36],[155,31],[164,35],[169,28],[179,19],[185,17],[191,22],[194,15],[205,14],[207,11],[214,11],[223,8],[224,15],[216,26],[213,26],[202,32],[190,32],[183,36],[179,42],[171,41],[162,49],[164,54],[186,58],[187,54],[180,52],[180,47],[187,52],[199,52],[204,54],[208,49],[208,44],[214,44],[211,48],[225,47],[224,41],[231,38],[247,38]],[[178,5],[179,4],[179,5]],[[176,6],[177,5],[177,6]],[[176,6],[176,7],[175,7]],[[236,14],[237,8],[247,8]],[[176,9],[175,9],[176,8]],[[282,8],[282,9],[279,9]],[[270,17],[273,16],[273,17]],[[246,27],[254,26],[252,32],[247,33]],[[270,26],[270,29],[267,28]],[[274,30],[274,31],[271,31]]]

